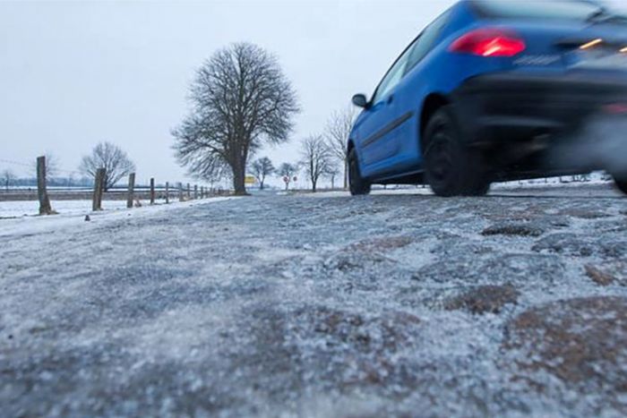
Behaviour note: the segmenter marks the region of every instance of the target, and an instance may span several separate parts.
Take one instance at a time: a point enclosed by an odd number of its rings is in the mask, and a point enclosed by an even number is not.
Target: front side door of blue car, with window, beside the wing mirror
[[[391,66],[390,71],[383,77],[379,87],[374,92],[371,106],[361,118],[358,129],[359,149],[361,150],[361,164],[364,175],[374,174],[377,166],[399,151],[397,130],[394,126],[396,103],[394,91],[402,80],[408,57],[414,47],[412,43],[399,59]]]

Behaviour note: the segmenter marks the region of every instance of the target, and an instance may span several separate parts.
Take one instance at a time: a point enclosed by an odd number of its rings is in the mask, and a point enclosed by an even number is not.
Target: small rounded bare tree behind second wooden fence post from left
[[[135,165],[128,155],[111,142],[100,142],[89,156],[82,158],[79,170],[85,175],[96,178],[99,168],[106,170],[105,191],[113,187],[125,175],[135,171]]]

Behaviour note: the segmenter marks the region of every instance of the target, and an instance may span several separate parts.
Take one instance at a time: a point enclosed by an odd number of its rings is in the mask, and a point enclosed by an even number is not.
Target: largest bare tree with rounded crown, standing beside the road
[[[202,65],[190,89],[192,112],[172,134],[176,158],[190,172],[228,166],[236,194],[245,194],[249,155],[262,144],[288,141],[299,111],[296,93],[277,58],[241,43]]]

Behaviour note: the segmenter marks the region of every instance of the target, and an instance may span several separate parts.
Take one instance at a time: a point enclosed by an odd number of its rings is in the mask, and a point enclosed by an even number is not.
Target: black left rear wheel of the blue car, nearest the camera
[[[489,192],[484,158],[461,141],[460,130],[448,107],[442,107],[429,120],[425,144],[425,177],[435,194],[483,196]]]

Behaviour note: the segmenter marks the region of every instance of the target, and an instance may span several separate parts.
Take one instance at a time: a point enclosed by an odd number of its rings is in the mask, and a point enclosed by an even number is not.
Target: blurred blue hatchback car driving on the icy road
[[[595,170],[627,192],[627,17],[604,4],[461,1],[353,104],[354,195],[374,183],[483,195]]]

